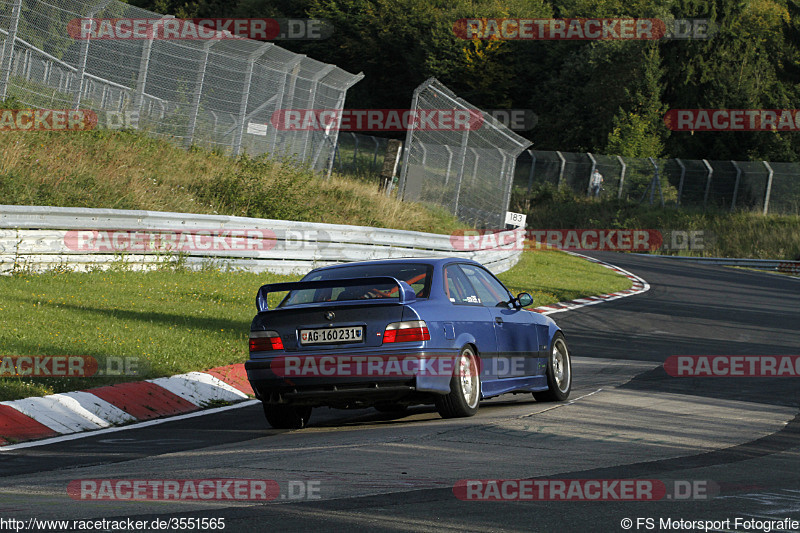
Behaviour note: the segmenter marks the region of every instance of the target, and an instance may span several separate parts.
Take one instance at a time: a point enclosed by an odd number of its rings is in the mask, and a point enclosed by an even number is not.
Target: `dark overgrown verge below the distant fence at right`
[[[700,230],[703,249],[672,251],[704,257],[800,258],[800,216],[737,211],[651,207],[624,200],[594,201],[571,191],[542,189],[531,198],[515,195],[512,210],[528,215],[536,229]]]

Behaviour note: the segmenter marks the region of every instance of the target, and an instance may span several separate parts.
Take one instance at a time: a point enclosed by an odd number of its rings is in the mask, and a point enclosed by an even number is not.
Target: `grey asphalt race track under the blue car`
[[[574,358],[569,402],[507,396],[456,420],[432,408],[319,409],[309,428],[291,432],[268,429],[254,403],[6,451],[0,518],[224,518],[226,532],[664,531],[660,519],[763,531],[734,520],[800,520],[800,380],[677,378],[662,366],[671,355],[800,355],[800,281],[592,255],[651,289],[553,315]],[[79,479],[208,478],[275,480],[281,495],[110,502],[67,493]],[[656,501],[462,501],[453,492],[458,480],[530,478],[696,489]],[[298,487],[313,498],[300,499]]]

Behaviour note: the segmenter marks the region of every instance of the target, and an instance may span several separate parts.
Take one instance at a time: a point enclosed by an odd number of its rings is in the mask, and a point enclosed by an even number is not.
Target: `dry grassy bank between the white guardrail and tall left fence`
[[[265,157],[184,150],[128,131],[0,135],[5,204],[150,209],[450,233],[443,209],[398,202],[366,182],[320,179]]]

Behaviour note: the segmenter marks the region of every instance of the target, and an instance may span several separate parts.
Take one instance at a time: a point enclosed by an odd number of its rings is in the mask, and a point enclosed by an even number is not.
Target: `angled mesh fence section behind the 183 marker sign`
[[[482,117],[479,127],[411,127],[398,197],[439,205],[476,227],[503,227],[517,156],[531,143],[458,98],[435,78],[417,87],[411,109],[455,109]]]

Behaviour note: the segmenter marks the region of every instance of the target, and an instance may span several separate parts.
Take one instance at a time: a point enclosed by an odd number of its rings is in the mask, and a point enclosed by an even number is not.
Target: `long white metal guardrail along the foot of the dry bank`
[[[510,242],[514,231],[498,235]],[[503,240],[500,240],[503,239]],[[182,261],[251,272],[303,274],[334,263],[401,257],[464,257],[495,274],[514,266],[521,251],[481,243],[465,251],[449,235],[259,218],[0,205],[0,273],[68,268],[133,270]],[[513,247],[512,247],[513,248]]]

